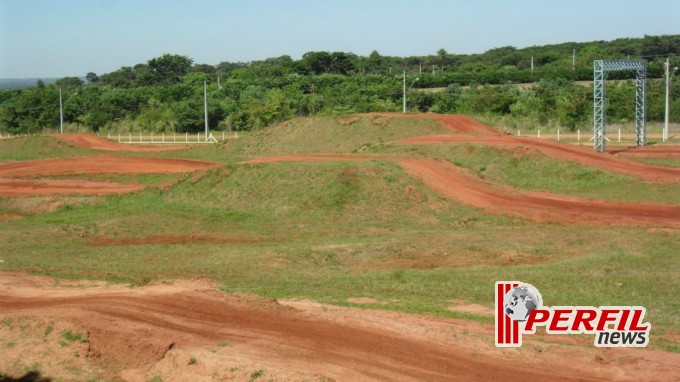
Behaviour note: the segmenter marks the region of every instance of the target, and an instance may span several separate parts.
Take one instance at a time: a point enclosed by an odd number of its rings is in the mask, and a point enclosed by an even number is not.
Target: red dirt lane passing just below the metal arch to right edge
[[[680,182],[680,168],[654,166],[635,162],[612,155],[603,155],[592,149],[531,137],[514,136],[456,136],[432,135],[401,139],[397,143],[472,143],[511,149],[522,146],[543,152],[558,159],[564,159],[584,166],[601,168],[619,174],[635,176],[651,182]]]

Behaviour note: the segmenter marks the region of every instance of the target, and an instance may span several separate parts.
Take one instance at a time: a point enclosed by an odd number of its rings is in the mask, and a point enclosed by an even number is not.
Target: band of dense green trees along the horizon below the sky
[[[68,130],[196,132],[204,128],[203,84],[209,125],[215,130],[258,129],[298,116],[401,111],[403,73],[410,112],[465,113],[507,118],[527,127],[587,128],[592,123],[593,60],[648,62],[648,119],[663,120],[664,61],[680,64],[680,35],[564,43],[482,54],[440,49],[423,57],[368,57],[308,52],[263,61],[198,64],[165,54],[85,81],[0,91],[0,130],[32,133],[58,129],[59,89]],[[607,88],[609,121],[634,120],[634,73]],[[417,80],[416,80],[417,79]],[[513,84],[533,83],[518,87]],[[680,122],[680,82],[672,86],[671,120]],[[442,88],[440,91],[426,91]]]

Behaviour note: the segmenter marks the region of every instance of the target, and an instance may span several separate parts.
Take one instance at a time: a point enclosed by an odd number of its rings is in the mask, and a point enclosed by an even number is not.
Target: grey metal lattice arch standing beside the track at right
[[[608,72],[635,71],[635,144],[645,145],[647,133],[646,83],[647,64],[644,61],[596,60],[593,63],[593,141],[595,151],[604,152],[607,141],[606,86]]]

